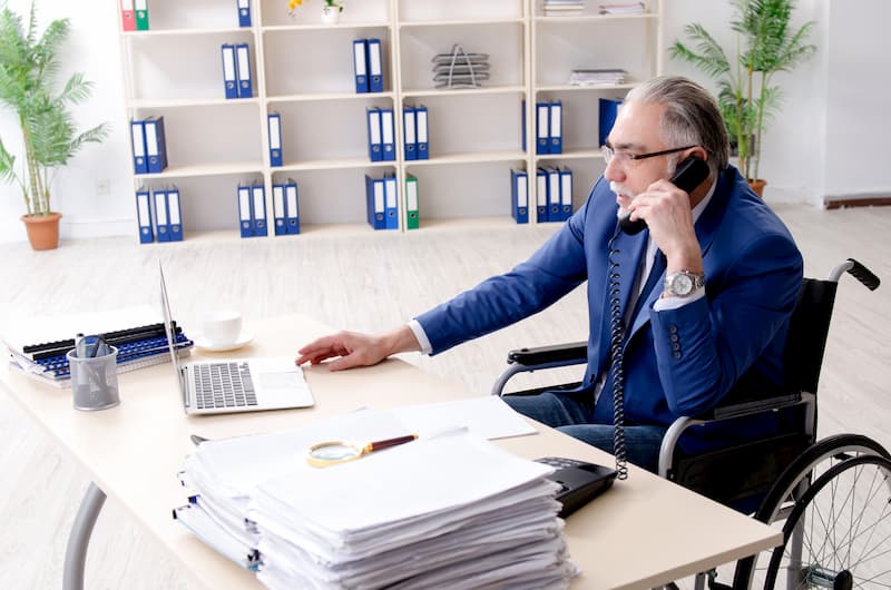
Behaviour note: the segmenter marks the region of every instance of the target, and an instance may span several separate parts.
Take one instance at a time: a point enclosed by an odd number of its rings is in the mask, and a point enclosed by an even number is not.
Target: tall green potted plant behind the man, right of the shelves
[[[814,21],[795,30],[790,27],[794,0],[733,0],[733,6],[730,24],[736,32],[735,59],[698,22],[684,28],[693,45],[675,41],[668,52],[717,80],[718,106],[738,156],[740,173],[761,196],[766,184],[758,178],[761,139],[782,101],[774,76],[792,71],[816,51],[816,46],[806,43]]]

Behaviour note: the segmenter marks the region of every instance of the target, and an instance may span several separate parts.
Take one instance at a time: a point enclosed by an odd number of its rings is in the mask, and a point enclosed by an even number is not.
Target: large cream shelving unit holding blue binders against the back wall
[[[415,176],[421,228],[512,224],[511,168],[572,168],[574,206],[603,171],[597,144],[597,98],[617,98],[662,71],[662,8],[643,16],[545,17],[539,0],[345,0],[336,24],[321,22],[321,2],[306,0],[288,16],[285,0],[252,0],[252,26],[237,27],[235,2],[151,0],[148,31],[123,31],[126,120],[163,115],[168,167],[135,175],[134,187],[176,184],[186,239],[197,233],[238,236],[238,183],[300,185],[303,232],[373,232],[365,223],[365,175]],[[119,10],[115,2],[116,10]],[[118,19],[119,21],[119,19]],[[384,91],[355,94],[352,41],[382,41]],[[254,97],[225,99],[219,46],[251,48]],[[479,88],[440,89],[431,58],[461,43],[489,55],[490,79]],[[575,68],[618,67],[630,83],[576,87]],[[522,102],[564,104],[564,153],[535,154],[535,109],[522,150]],[[402,109],[429,112],[430,159],[402,159]],[[368,156],[369,107],[392,108],[395,161]],[[271,167],[266,117],[282,115],[283,166]],[[535,203],[530,175],[530,203]],[[530,215],[530,224],[535,224]],[[522,227],[522,226],[519,226]],[[389,232],[392,233],[392,232]],[[275,237],[270,230],[270,237]],[[136,232],[134,232],[136,235]]]

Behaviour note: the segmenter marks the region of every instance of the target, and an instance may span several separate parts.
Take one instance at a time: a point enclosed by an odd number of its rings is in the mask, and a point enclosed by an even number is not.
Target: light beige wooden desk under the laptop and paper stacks
[[[257,338],[238,351],[241,356],[291,354],[330,332],[303,316],[260,322],[249,328]],[[362,406],[385,409],[471,395],[398,360],[341,373],[309,367],[306,378],[316,400],[312,409],[186,416],[169,364],[120,375],[120,405],[101,412],[78,412],[71,406],[70,390],[38,383],[6,365],[0,368],[0,385],[87,470],[101,492],[150,532],[196,586],[214,589],[261,584],[253,573],[205,547],[170,517],[172,509],[186,501],[176,473],[193,450],[190,434],[213,439],[271,432]],[[537,435],[498,444],[530,459],[558,455],[613,463],[610,455],[575,439],[542,425],[538,430]],[[98,496],[95,513],[85,517],[92,519],[86,539],[80,531],[84,544],[101,508],[104,496]],[[566,534],[572,562],[584,571],[572,584],[579,589],[653,588],[782,540],[775,529],[634,466],[627,481],[617,482],[570,517]],[[78,587],[79,580],[71,582],[69,572],[66,580]]]

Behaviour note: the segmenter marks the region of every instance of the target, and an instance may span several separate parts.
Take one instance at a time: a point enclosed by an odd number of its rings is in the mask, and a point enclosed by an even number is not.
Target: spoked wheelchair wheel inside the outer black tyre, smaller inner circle
[[[765,589],[891,588],[891,461],[844,460],[795,504],[773,551]]]

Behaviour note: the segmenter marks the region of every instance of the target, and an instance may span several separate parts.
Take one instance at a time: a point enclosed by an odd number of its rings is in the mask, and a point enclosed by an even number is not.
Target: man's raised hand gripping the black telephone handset
[[[702,273],[702,250],[693,228],[689,195],[668,180],[657,180],[631,200],[630,208],[636,217],[646,219],[653,242],[665,254],[668,273]]]

